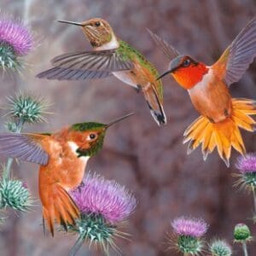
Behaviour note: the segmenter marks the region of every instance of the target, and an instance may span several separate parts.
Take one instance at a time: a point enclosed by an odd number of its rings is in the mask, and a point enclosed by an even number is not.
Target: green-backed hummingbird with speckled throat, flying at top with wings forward
[[[156,81],[159,73],[137,49],[115,36],[108,21],[100,18],[84,22],[58,21],[80,26],[93,50],[56,56],[51,60],[54,67],[38,73],[38,78],[79,80],[104,79],[113,75],[137,91],[142,91],[156,123],[166,124],[162,83]]]

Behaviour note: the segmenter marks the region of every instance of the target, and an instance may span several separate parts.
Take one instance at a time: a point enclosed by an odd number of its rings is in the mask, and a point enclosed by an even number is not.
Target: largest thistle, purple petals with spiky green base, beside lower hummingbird
[[[106,254],[109,245],[118,249],[113,238],[125,235],[118,226],[135,210],[135,197],[119,183],[91,174],[70,195],[81,212],[77,226],[68,227],[68,230],[79,234],[70,255],[74,255],[84,241],[100,245]]]

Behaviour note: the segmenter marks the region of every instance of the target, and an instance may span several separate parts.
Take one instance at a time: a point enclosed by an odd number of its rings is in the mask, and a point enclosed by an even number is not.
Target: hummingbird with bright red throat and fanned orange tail
[[[171,74],[185,90],[201,116],[184,132],[183,143],[188,154],[201,145],[203,159],[217,147],[226,166],[230,166],[231,148],[246,153],[239,128],[255,131],[256,102],[232,98],[230,84],[241,79],[256,56],[256,17],[245,26],[212,66],[181,55],[172,45],[153,32],[150,35],[170,60],[168,70],[160,78]]]

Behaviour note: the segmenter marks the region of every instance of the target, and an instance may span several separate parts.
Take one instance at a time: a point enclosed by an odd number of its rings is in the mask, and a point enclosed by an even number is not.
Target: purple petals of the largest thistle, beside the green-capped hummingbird
[[[80,212],[101,214],[112,224],[128,218],[137,205],[135,197],[124,186],[90,173],[71,195]]]

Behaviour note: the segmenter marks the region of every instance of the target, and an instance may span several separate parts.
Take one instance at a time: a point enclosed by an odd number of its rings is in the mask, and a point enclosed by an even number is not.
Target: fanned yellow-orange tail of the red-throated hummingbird
[[[255,131],[256,121],[250,117],[256,115],[256,102],[247,99],[232,99],[232,113],[229,118],[212,124],[209,119],[200,116],[184,132],[183,143],[189,143],[188,154],[201,144],[204,160],[217,147],[218,154],[226,166],[230,166],[231,148],[240,154],[246,153],[239,128]]]

